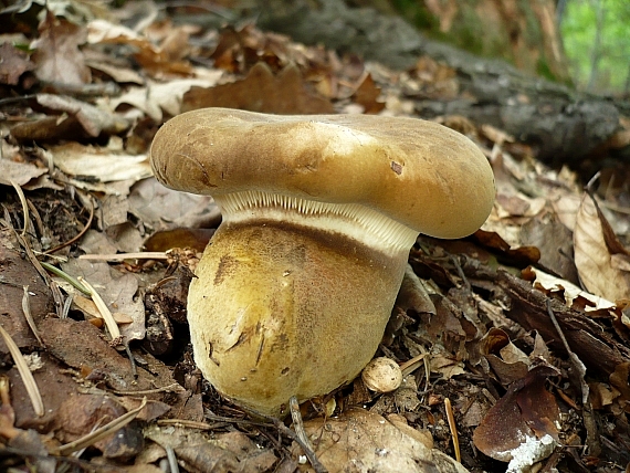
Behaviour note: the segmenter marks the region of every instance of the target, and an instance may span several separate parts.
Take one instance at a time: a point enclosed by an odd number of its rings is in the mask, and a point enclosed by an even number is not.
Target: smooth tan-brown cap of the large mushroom
[[[474,232],[495,195],[487,159],[469,138],[418,118],[201,108],[158,130],[150,160],[172,189],[358,203],[438,238]]]

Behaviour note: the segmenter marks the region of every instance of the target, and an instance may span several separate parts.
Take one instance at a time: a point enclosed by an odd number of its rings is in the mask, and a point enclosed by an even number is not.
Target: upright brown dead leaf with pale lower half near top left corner
[[[31,44],[35,52],[31,61],[41,81],[82,85],[92,80],[90,67],[78,49],[87,38],[83,27],[56,18],[50,10],[41,22],[40,38]]]

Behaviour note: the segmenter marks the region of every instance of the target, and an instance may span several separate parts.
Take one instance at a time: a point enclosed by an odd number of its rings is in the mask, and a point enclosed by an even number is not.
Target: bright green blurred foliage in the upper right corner
[[[571,75],[581,88],[628,93],[630,2],[568,0],[561,22]]]

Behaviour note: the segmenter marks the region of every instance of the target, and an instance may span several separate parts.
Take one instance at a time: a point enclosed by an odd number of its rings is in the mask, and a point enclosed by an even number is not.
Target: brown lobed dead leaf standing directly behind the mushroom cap
[[[243,80],[211,88],[191,87],[183,95],[182,112],[204,107],[239,108],[273,114],[332,114],[333,105],[308,92],[300,70],[288,65],[274,76],[265,63],[256,63]]]

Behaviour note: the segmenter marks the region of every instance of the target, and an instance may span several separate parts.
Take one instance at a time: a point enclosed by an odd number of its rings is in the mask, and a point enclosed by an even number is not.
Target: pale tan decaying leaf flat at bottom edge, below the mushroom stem
[[[334,419],[313,419],[304,429],[319,461],[330,472],[465,473],[460,463],[438,450],[428,449],[409,425],[396,423],[364,409],[350,409]],[[294,445],[294,455],[302,450]],[[312,471],[312,470],[306,470]]]

